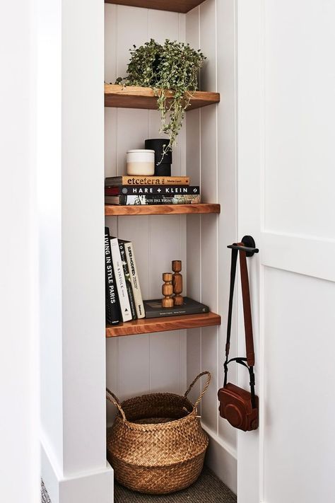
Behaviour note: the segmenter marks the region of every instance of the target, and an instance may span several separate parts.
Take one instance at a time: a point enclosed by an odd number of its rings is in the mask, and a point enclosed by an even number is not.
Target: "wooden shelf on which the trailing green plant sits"
[[[172,96],[172,91],[167,91],[167,95]],[[219,103],[219,101],[219,93],[195,91],[187,110],[206,107],[206,105],[213,105],[213,103]],[[150,87],[124,87],[117,84],[105,84],[105,107],[156,110],[157,97]]]

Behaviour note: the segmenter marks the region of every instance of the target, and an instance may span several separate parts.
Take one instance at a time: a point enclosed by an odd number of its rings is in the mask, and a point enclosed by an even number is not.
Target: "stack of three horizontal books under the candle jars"
[[[112,176],[105,178],[106,204],[199,204],[198,185],[188,176]]]

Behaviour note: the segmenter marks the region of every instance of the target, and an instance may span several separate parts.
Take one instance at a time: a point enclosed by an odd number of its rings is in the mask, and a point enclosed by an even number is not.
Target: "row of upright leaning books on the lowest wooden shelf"
[[[105,227],[106,323],[146,316],[131,241],[113,238]]]

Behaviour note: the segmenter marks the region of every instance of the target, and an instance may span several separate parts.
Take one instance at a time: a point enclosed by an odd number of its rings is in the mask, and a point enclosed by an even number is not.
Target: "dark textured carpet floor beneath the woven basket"
[[[233,492],[208,468],[204,468],[195,484],[172,495],[141,495],[139,492],[129,491],[117,482],[114,483],[114,503],[236,503],[236,501]],[[43,482],[42,503],[51,503]]]

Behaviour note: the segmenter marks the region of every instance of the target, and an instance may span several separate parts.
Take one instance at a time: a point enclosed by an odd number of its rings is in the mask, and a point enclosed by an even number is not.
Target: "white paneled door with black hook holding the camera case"
[[[259,431],[238,434],[239,503],[335,500],[334,19],[327,0],[237,1],[238,237],[260,250],[261,407]]]

